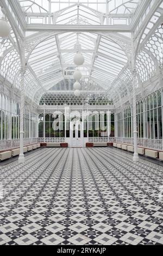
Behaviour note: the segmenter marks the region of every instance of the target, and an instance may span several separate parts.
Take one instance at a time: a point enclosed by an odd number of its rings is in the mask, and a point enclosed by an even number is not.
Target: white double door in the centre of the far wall
[[[83,123],[79,121],[70,122],[70,139],[72,148],[83,147]]]

